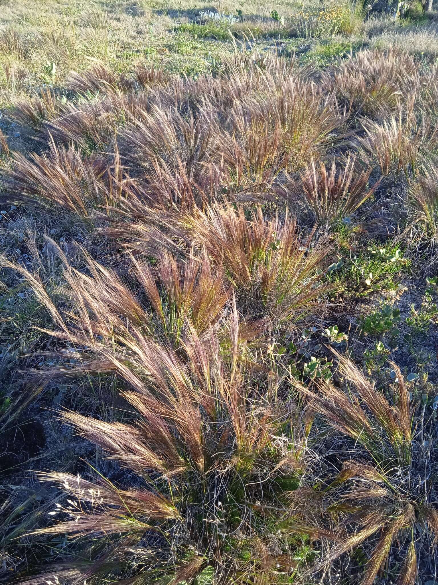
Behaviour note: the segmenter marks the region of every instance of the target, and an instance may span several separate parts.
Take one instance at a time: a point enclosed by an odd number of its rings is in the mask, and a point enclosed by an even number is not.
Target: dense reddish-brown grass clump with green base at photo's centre
[[[296,219],[266,221],[260,208],[247,218],[244,208],[227,206],[190,223],[193,241],[221,266],[249,315],[292,322],[316,308],[327,255],[324,242],[300,233]]]

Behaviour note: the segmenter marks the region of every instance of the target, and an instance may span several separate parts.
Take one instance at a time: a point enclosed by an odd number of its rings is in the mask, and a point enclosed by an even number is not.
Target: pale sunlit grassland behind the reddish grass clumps
[[[284,22],[270,17],[273,9]],[[55,0],[37,2],[37,8],[35,2],[5,2],[0,15],[1,103],[10,105],[43,84],[63,85],[69,71],[85,70],[95,61],[119,73],[148,63],[196,77],[234,50],[236,42],[245,49],[297,52],[319,65],[360,46],[399,44],[421,54],[436,52],[433,22],[396,22],[388,16],[376,22],[354,3],[323,9],[321,2],[213,6]],[[231,19],[203,16],[209,12]],[[318,22],[309,13],[316,13]]]

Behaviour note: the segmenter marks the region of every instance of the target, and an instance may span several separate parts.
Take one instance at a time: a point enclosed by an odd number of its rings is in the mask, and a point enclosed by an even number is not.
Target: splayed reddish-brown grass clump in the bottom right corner
[[[411,393],[394,363],[391,404],[347,357],[338,355],[338,360],[346,390],[326,381],[315,390],[300,387],[326,424],[349,438],[356,450],[354,460],[345,460],[338,477],[325,490],[332,498],[328,509],[346,514],[335,529],[339,542],[325,562],[369,541],[369,560],[360,583],[371,585],[391,551],[394,555],[394,548],[400,547],[404,561],[398,582],[413,585],[418,577],[418,553],[423,547],[434,553],[438,512],[433,482],[426,480],[418,488],[412,481],[422,476],[428,458],[422,448],[414,448],[416,441],[425,438],[416,435]]]

